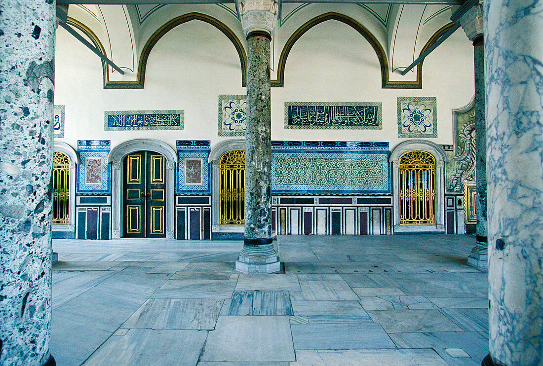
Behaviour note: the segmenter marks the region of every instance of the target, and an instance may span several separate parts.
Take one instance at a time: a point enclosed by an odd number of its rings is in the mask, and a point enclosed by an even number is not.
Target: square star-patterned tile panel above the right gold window
[[[435,97],[398,97],[398,137],[438,137]]]

